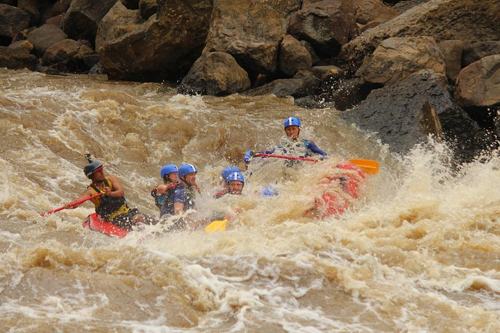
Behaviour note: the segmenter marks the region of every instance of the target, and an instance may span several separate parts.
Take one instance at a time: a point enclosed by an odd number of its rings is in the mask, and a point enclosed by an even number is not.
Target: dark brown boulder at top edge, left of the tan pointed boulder
[[[63,31],[74,40],[94,44],[97,28],[117,0],[73,0],[61,23]]]

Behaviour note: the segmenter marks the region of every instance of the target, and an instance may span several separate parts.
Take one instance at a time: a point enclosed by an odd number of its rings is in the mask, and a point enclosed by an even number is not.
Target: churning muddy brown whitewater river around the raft
[[[330,159],[254,160],[226,232],[124,239],[82,228],[83,154],[149,195],[163,164],[197,165],[199,210],[223,167],[283,139],[283,119]],[[331,109],[274,96],[185,96],[152,83],[0,69],[0,332],[500,332],[500,159],[451,172],[446,146],[395,156]],[[377,160],[342,216],[302,216],[335,161]],[[241,165],[240,165],[241,166]],[[273,185],[279,195],[263,197]]]

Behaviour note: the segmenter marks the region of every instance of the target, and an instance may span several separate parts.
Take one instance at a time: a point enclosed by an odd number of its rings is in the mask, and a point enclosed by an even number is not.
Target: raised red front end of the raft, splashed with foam
[[[325,219],[342,214],[354,200],[363,196],[366,182],[367,173],[356,164],[348,161],[336,164],[318,183],[321,192],[303,216]]]

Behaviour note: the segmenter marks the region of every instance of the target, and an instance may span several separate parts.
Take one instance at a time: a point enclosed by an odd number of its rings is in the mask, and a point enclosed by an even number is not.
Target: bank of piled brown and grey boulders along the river
[[[403,153],[498,148],[497,0],[0,0],[0,67],[293,96]]]

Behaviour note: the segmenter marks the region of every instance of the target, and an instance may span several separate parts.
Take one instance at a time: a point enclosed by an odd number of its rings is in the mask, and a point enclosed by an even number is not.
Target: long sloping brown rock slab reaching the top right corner
[[[500,6],[492,0],[433,0],[415,6],[342,46],[338,61],[358,68],[389,37],[431,36],[436,42],[500,40]]]

